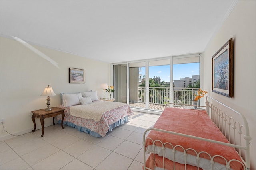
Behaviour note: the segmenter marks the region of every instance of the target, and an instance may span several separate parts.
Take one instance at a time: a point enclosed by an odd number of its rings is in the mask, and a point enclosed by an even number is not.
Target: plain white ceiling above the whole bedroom
[[[110,63],[202,52],[237,0],[0,0],[0,35]]]

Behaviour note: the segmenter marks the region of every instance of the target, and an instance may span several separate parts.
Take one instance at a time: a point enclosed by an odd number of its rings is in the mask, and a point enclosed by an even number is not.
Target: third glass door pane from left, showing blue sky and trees
[[[170,59],[149,62],[149,109],[164,110],[170,101]]]

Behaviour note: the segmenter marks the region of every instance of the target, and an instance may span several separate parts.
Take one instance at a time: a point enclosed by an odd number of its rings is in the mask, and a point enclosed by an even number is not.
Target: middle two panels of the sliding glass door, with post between
[[[129,63],[131,107],[163,110],[168,100],[170,100],[170,59]]]

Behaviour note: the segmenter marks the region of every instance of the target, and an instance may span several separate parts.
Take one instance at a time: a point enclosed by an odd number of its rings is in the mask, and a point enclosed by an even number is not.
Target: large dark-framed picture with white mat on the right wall
[[[233,97],[233,39],[212,57],[212,92]]]

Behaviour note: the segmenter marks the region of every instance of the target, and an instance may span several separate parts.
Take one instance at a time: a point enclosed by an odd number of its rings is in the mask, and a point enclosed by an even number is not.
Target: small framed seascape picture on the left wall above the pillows
[[[70,83],[85,83],[85,70],[69,68]]]

